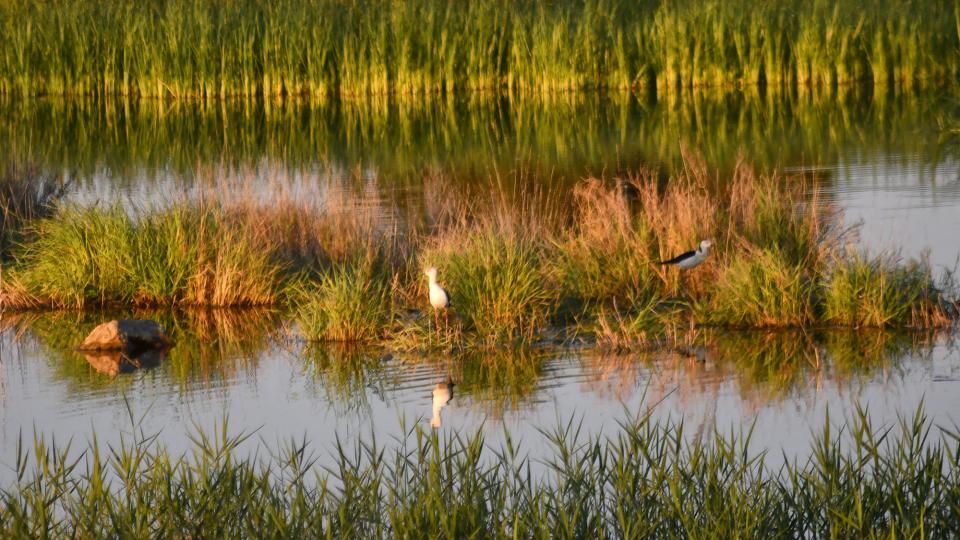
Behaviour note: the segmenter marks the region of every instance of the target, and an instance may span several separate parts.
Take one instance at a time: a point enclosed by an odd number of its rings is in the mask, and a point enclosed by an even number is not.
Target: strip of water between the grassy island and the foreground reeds
[[[415,425],[432,429],[432,392],[448,378],[453,395],[438,410],[438,429],[481,430],[497,445],[506,428],[534,457],[548,455],[540,429],[572,418],[584,435],[614,434],[618,421],[648,411],[683,420],[690,436],[752,425],[751,447],[772,450],[773,463],[781,448],[790,459],[806,457],[828,410],[841,425],[863,405],[889,427],[923,402],[937,425],[960,420],[960,355],[949,334],[719,332],[704,335],[694,355],[548,348],[424,358],[309,348],[254,316],[227,315],[202,338],[185,320],[153,316],[186,329],[178,345],[155,368],[115,376],[64,347],[96,315],[8,319],[22,331],[0,341],[4,464],[21,434],[35,430],[83,447],[92,433],[116,443],[136,426],[179,453],[190,449],[190,433],[225,418],[270,447],[306,437],[328,456],[337,437],[383,442]]]

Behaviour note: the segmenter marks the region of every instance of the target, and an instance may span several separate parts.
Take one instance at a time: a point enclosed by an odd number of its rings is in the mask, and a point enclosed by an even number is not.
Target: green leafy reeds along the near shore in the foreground
[[[109,446],[36,436],[4,486],[0,530],[18,538],[885,537],[957,534],[956,434],[921,410],[874,425],[828,421],[809,457],[771,466],[751,431],[694,437],[629,417],[584,436],[575,421],[528,441],[480,433],[260,447],[226,423],[185,455],[137,435]],[[942,429],[942,428],[941,428]],[[797,449],[794,449],[797,450]],[[805,452],[804,452],[805,451]],[[326,465],[321,465],[327,463]]]

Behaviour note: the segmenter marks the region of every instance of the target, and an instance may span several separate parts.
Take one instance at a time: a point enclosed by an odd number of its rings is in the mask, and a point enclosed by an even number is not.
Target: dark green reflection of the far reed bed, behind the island
[[[262,108],[248,101],[198,107],[0,98],[0,154],[16,158],[29,149],[25,157],[43,170],[76,171],[75,182],[91,199],[131,188],[139,193],[141,182],[150,187],[144,191],[163,192],[170,183],[158,171],[182,176],[198,164],[216,165],[221,176],[242,176],[273,163],[338,175],[373,171],[382,196],[397,200],[419,193],[422,177],[433,171],[460,188],[515,169],[531,172],[517,181],[566,186],[585,174],[622,174],[650,163],[674,171],[683,167],[683,146],[696,148],[711,169],[723,171],[738,158],[771,170],[845,163],[851,153],[864,162],[956,155],[950,144],[956,138],[944,139],[929,121],[939,116],[960,122],[945,99],[956,101],[939,92],[830,99],[735,92],[675,100],[628,93],[545,100],[483,94],[453,103],[288,102]],[[837,181],[844,181],[842,175]]]

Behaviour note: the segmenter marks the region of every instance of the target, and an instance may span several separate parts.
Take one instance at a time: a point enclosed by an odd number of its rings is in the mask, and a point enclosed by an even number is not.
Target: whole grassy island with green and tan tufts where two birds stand
[[[643,171],[588,179],[572,200],[425,185],[424,215],[343,186],[317,200],[219,186],[151,209],[62,205],[21,224],[0,302],[280,306],[311,340],[402,348],[557,329],[639,344],[684,325],[939,328],[960,316],[950,272],[857,250],[802,177],[741,164],[721,179],[688,156],[665,183]],[[657,264],[704,238],[714,248],[696,269]],[[431,328],[428,266],[453,303],[449,331]]]

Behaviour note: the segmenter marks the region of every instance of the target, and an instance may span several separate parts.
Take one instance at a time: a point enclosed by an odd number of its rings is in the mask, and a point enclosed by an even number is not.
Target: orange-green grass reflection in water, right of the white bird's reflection
[[[741,403],[759,411],[787,397],[815,399],[825,382],[838,392],[889,373],[908,357],[925,357],[942,335],[883,330],[710,332],[675,349],[580,356],[587,388],[623,400],[643,389],[648,401],[670,397],[684,410],[712,406],[733,383]],[[897,380],[896,377],[890,380]],[[710,411],[706,411],[708,414]]]

